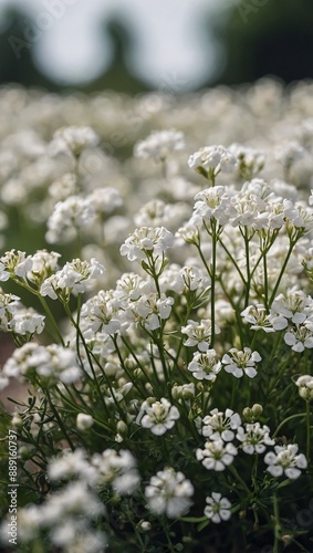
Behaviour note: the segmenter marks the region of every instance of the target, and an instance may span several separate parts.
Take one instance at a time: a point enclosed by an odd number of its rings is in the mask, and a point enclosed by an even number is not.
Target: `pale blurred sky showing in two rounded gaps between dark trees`
[[[109,65],[112,46],[100,22],[122,13],[136,39],[127,55],[135,74],[153,86],[192,90],[221,63],[218,44],[199,23],[230,1],[0,0],[0,8],[18,4],[31,10],[35,63],[61,84],[91,81]],[[25,20],[25,36],[29,32]]]

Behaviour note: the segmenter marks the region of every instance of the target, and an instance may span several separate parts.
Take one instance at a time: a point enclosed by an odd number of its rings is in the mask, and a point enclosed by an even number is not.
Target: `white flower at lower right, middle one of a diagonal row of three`
[[[241,441],[244,453],[263,453],[267,446],[273,446],[275,440],[270,438],[270,428],[267,425],[261,427],[260,422],[246,424],[244,429],[238,428],[236,438]]]

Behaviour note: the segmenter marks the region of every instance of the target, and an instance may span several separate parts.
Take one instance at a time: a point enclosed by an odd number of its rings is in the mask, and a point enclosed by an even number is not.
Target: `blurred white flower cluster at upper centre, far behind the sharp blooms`
[[[185,149],[184,134],[180,131],[155,131],[145,140],[135,145],[135,157],[164,160],[171,152]]]

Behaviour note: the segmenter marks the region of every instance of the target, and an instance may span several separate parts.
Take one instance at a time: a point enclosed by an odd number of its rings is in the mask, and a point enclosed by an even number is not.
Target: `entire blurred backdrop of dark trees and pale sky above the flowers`
[[[313,77],[312,0],[0,0],[0,84],[199,91]]]

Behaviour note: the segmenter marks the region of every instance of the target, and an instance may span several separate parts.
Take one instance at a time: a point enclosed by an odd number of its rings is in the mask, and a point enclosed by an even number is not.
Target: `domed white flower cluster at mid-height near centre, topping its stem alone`
[[[121,246],[121,255],[129,261],[143,261],[147,255],[157,258],[174,244],[174,236],[165,227],[140,227]]]

